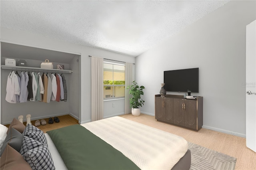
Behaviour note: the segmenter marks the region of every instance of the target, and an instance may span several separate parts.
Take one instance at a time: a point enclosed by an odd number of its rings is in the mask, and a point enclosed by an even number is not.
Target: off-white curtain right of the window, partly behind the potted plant
[[[125,92],[124,92],[124,114],[132,113],[130,108],[130,94],[129,89],[126,89],[134,81],[134,64],[125,63]]]

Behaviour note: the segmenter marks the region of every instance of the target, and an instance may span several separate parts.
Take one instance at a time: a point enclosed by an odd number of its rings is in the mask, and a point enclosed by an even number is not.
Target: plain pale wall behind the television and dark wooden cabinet
[[[154,115],[165,70],[199,67],[192,95],[204,97],[203,127],[245,137],[246,25],[255,19],[256,1],[231,1],[136,57],[136,81],[146,88],[141,112]]]

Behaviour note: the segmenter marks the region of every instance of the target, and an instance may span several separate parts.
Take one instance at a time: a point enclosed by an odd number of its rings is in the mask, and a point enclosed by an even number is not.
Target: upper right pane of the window
[[[124,80],[125,80],[124,73],[125,73],[124,65],[113,65],[114,85],[124,85]]]

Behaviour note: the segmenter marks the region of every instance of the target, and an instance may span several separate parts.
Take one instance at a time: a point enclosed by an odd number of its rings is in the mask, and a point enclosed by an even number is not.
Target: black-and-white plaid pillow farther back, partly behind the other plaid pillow
[[[22,134],[24,136],[28,136],[34,140],[37,140],[38,142],[47,144],[47,139],[44,135],[44,132],[39,128],[35,127],[34,125],[28,124]]]

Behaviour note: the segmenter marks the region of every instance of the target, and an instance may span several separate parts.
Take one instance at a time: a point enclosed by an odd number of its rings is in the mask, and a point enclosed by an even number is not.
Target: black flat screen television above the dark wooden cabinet
[[[199,68],[164,71],[166,91],[199,93]]]

